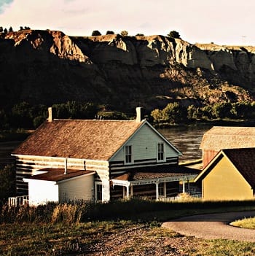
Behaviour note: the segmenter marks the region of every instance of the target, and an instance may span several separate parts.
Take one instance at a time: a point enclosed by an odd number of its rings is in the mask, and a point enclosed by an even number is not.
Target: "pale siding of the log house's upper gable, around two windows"
[[[128,142],[126,145],[133,145],[133,160],[156,159],[157,158],[157,142],[164,142],[165,158],[176,158],[178,152],[173,150],[164,139],[162,139],[156,132],[144,125]],[[122,147],[117,155],[112,158],[112,161],[123,161],[125,159],[125,150]]]

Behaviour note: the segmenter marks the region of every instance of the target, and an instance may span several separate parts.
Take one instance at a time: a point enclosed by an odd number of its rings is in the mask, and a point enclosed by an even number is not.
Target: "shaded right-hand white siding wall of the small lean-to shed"
[[[94,199],[94,175],[86,175],[59,182],[59,201]]]

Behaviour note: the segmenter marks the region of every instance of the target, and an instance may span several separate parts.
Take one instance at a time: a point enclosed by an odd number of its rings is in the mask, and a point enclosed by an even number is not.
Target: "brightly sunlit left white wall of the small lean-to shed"
[[[30,179],[28,195],[30,205],[37,206],[52,201],[58,202],[58,185],[55,185],[55,182]]]

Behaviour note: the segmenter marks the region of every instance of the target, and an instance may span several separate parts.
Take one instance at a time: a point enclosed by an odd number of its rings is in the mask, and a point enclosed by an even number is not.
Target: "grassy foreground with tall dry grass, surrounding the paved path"
[[[175,217],[254,209],[254,201],[4,206],[0,255],[255,255],[255,243],[204,240],[161,228]]]

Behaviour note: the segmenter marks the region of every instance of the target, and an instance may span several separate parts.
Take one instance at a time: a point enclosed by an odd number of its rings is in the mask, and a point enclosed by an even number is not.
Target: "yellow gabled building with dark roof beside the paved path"
[[[255,148],[221,150],[195,178],[205,200],[254,198]]]

